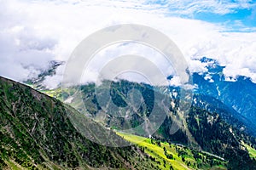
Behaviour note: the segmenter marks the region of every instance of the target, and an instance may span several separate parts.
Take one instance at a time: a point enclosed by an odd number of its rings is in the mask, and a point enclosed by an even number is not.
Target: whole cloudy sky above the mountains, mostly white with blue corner
[[[36,77],[50,60],[67,61],[85,37],[106,26],[139,24],[177,44],[190,71],[207,71],[203,56],[224,65],[224,75],[256,82],[256,1],[251,0],[0,0],[0,75],[17,81]],[[114,46],[98,54],[154,55],[137,45]],[[132,50],[131,50],[132,49]],[[165,63],[158,61],[160,67]],[[94,68],[95,65],[91,65]],[[61,82],[64,66],[45,84]],[[172,69],[171,69],[172,70]],[[172,73],[172,71],[166,74]],[[91,72],[85,81],[93,81]]]

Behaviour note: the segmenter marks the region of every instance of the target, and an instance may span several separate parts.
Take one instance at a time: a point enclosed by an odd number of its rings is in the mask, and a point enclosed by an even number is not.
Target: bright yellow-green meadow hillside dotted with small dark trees
[[[160,169],[226,169],[226,161],[207,152],[191,150],[181,144],[169,144],[133,134],[118,134],[141,147],[156,164],[160,165]]]

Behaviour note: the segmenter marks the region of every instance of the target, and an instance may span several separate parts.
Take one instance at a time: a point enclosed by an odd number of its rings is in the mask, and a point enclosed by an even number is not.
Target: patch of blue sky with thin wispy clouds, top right
[[[226,26],[226,31],[255,31],[256,1],[146,1],[166,8],[166,15]]]

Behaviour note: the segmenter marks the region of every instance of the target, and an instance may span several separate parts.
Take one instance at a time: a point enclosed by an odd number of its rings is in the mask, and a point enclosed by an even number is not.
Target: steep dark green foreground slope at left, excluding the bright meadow
[[[80,114],[57,99],[3,77],[0,96],[0,169],[157,167],[137,147],[109,148],[84,138],[71,122]],[[84,121],[85,130],[107,131],[96,122]],[[113,143],[125,142],[112,136]]]

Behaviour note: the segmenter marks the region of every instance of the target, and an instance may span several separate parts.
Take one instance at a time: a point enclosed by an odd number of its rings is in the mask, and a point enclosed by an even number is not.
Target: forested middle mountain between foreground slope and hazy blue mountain
[[[144,105],[141,105],[138,111],[132,114],[128,110],[116,111],[112,110],[110,105],[100,105],[97,101],[96,84],[94,83],[65,88],[62,93],[61,89],[50,90],[47,93],[63,99],[68,105],[73,105],[78,111],[101,122],[104,126],[117,130],[137,127],[139,124],[147,122],[153,106],[160,111],[160,104],[164,104],[162,107],[167,107],[168,113],[164,122],[154,133],[155,139],[187,145],[192,150],[206,150],[214,155],[224,157],[228,161],[227,167],[230,169],[255,168],[256,161],[250,157],[246,146],[250,145],[255,148],[256,139],[250,135],[249,128],[243,123],[243,119],[246,118],[224,105],[220,100],[196,94],[193,97],[194,102],[189,114],[183,115],[177,99],[180,94],[179,88],[171,87],[171,91],[177,95],[172,95],[169,99],[158,100],[154,98],[154,93],[161,95],[163,92],[160,87],[155,88],[148,84],[125,80],[110,83],[111,100],[119,108],[125,108],[127,105],[125,98],[128,97],[129,91],[132,89],[137,89],[142,94]],[[109,81],[102,82],[97,88],[108,89],[108,84]],[[154,91],[154,89],[156,90]],[[106,104],[109,103],[109,100],[106,101]],[[170,105],[170,101],[172,101],[172,105]],[[104,112],[102,107],[107,112]],[[177,132],[171,133],[172,125],[175,124],[179,125]],[[147,131],[150,131],[150,126],[146,126],[146,130],[137,128],[136,133],[147,137]]]

